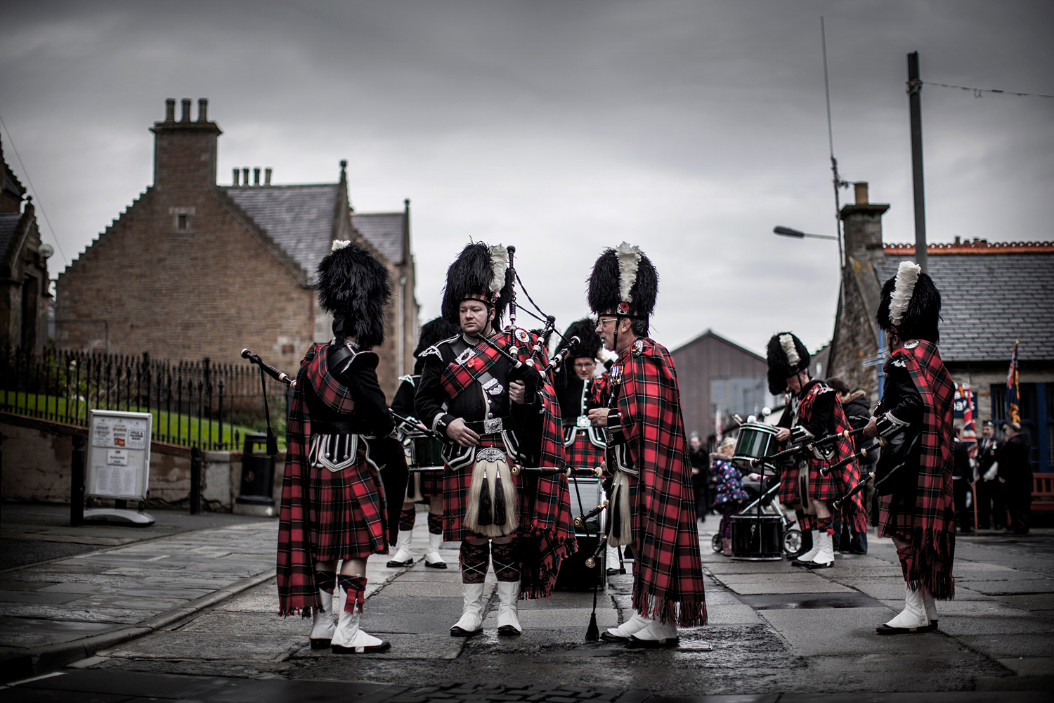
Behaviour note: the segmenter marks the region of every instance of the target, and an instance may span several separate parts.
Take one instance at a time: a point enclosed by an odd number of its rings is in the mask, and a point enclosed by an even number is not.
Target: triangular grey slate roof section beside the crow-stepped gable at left
[[[337,183],[321,185],[227,187],[227,194],[304,267],[315,268],[329,253]]]

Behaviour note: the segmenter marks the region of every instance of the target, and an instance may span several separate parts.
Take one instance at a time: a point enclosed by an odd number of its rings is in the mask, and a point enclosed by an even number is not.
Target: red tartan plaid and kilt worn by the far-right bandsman
[[[911,344],[911,343],[909,343]],[[935,599],[955,598],[955,500],[952,489],[952,416],[955,384],[944,368],[937,345],[918,339],[901,347],[885,363],[903,364],[922,396],[922,450],[915,500],[882,500],[879,531],[909,543],[900,553],[904,579],[912,588],[923,586]],[[911,467],[903,467],[901,471]],[[898,552],[899,553],[899,552]]]

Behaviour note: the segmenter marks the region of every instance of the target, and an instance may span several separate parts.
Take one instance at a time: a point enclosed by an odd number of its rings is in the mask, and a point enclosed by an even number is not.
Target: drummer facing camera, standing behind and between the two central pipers
[[[604,431],[590,424],[589,411],[607,407],[608,374],[597,375],[601,341],[591,319],[572,323],[566,339],[578,336],[564,357],[563,368],[553,373],[560,416],[564,426],[564,462],[574,468],[592,469],[604,463]]]

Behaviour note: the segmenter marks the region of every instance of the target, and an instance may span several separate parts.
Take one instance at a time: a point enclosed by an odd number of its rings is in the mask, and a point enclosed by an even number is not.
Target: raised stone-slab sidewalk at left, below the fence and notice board
[[[128,546],[101,551],[94,546],[89,553],[0,573],[4,680],[51,670],[101,646],[142,637],[274,574],[277,521],[225,515],[195,523],[196,516],[184,522],[176,513],[159,519],[162,524],[156,528],[59,527],[46,524],[54,522],[50,507],[35,513],[44,525],[5,520],[5,548],[25,535]],[[12,512],[24,519],[33,511]],[[217,522],[235,524],[156,538]]]

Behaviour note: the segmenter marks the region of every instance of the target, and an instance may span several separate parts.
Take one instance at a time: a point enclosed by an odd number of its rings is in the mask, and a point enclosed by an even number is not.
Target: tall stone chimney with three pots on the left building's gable
[[[222,134],[208,119],[208,100],[198,100],[198,119],[191,121],[191,99],[164,101],[164,121],[154,122],[154,185],[159,189],[200,189],[216,184],[216,138]]]

